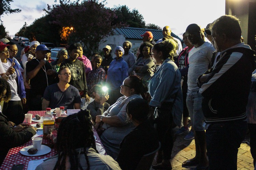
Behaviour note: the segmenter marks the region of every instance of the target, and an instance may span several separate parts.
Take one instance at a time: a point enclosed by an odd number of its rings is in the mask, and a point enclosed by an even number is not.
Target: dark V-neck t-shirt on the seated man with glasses
[[[74,103],[81,103],[81,97],[77,88],[70,85],[64,92],[62,92],[57,83],[46,87],[44,91],[44,99],[50,101],[50,108],[64,106],[65,110],[74,109]]]

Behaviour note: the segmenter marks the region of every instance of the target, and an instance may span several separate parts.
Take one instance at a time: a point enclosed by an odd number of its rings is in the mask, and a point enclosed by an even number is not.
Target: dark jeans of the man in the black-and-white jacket
[[[237,169],[237,153],[247,130],[243,120],[212,123],[206,130],[209,170]]]

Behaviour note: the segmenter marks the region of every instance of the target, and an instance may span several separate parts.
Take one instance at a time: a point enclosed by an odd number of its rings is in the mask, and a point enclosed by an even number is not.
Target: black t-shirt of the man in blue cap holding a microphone
[[[26,64],[26,72],[30,72],[39,65],[39,60],[33,59]],[[49,69],[53,69],[53,66],[48,61],[45,61],[45,65],[41,67],[37,75],[30,80],[32,95],[44,95],[44,90],[47,86],[53,84],[56,75],[47,75],[46,72]],[[47,83],[48,82],[48,83]]]

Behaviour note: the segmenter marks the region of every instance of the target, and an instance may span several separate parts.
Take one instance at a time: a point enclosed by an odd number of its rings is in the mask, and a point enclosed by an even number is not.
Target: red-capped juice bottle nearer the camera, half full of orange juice
[[[50,134],[50,129],[54,128],[54,117],[51,113],[51,108],[46,108],[46,112],[43,116],[43,139],[47,138],[47,135]]]

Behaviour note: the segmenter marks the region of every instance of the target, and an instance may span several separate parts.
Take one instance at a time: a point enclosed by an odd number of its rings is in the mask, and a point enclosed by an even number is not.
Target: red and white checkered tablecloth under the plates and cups
[[[32,117],[34,117],[35,115],[43,116],[45,111],[29,111],[28,113],[33,114]],[[24,122],[26,122],[26,121],[24,120]],[[34,123],[36,123],[36,122],[32,122],[31,124],[34,124]],[[94,130],[94,135],[96,136],[97,150],[99,151],[100,154],[106,155],[105,149],[100,141],[100,137],[95,130]],[[39,137],[42,137],[42,136],[39,136]],[[51,141],[48,139],[43,139],[42,145],[44,145],[44,144],[51,144]],[[57,151],[54,148],[52,148],[51,152],[49,152],[48,154],[41,155],[41,156],[25,156],[25,155],[22,155],[21,153],[19,153],[19,151],[22,148],[25,148],[30,145],[33,145],[32,140],[29,140],[28,142],[26,142],[24,145],[22,145],[20,147],[11,148],[9,150],[8,154],[6,155],[6,157],[4,158],[0,169],[1,170],[10,170],[10,169],[12,169],[12,166],[15,164],[16,165],[24,164],[24,170],[27,170],[28,162],[30,160],[38,160],[38,159],[48,158],[48,157],[51,157],[51,156],[54,156],[57,154]]]

